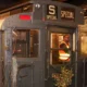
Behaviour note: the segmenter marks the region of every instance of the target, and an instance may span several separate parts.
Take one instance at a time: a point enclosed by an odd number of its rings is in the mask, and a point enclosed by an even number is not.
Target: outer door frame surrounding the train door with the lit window
[[[76,49],[78,49],[78,48],[76,48],[77,47],[77,36],[76,36],[76,34],[77,34],[77,28],[72,28],[72,27],[59,27],[59,26],[47,26],[47,36],[48,36],[48,59],[47,59],[47,61],[48,61],[48,63],[49,63],[49,65],[47,64],[47,66],[48,67],[46,67],[46,71],[48,71],[47,72],[47,80],[49,79],[49,77],[50,77],[50,34],[51,33],[67,33],[67,34],[72,34],[71,36],[72,36],[72,41],[71,41],[71,48],[72,48],[72,50],[73,50],[73,38],[74,38],[74,40],[75,40],[75,45],[74,45],[74,51],[75,51],[75,58],[74,58],[74,60],[72,60],[71,59],[71,63],[75,63],[75,65],[74,65],[74,74],[75,74],[75,78],[74,78],[74,86],[76,87],[77,86],[77,75],[76,75],[76,73],[75,72],[77,72],[77,63],[76,63],[76,61],[77,61],[77,51],[76,51]],[[74,37],[74,35],[75,35],[75,37]],[[60,65],[59,65],[60,66]],[[59,67],[58,65],[55,65],[55,66],[53,66],[53,70],[55,70],[55,67]]]

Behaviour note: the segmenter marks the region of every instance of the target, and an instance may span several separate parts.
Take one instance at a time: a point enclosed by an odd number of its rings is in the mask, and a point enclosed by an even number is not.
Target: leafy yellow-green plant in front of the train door
[[[53,78],[55,80],[54,85],[57,87],[67,87],[72,84],[72,78],[74,74],[72,69],[67,69],[66,66],[61,67],[61,73],[57,73],[53,75]]]

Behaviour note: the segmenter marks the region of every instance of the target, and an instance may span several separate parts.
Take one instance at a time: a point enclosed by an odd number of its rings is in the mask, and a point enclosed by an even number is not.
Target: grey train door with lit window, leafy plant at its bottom
[[[48,84],[63,87],[73,83],[75,61],[75,30],[71,28],[50,27],[48,32]],[[72,69],[72,70],[71,70]],[[71,85],[71,84],[70,84]]]

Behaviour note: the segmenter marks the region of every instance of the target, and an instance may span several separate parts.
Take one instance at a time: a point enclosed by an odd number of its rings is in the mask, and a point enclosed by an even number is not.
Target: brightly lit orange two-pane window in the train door
[[[71,61],[70,34],[51,33],[50,63],[62,64]]]

